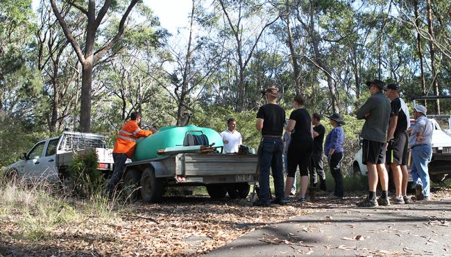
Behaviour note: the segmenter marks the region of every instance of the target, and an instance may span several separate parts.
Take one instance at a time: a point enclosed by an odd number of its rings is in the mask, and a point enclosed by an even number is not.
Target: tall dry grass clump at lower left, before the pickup
[[[42,240],[52,237],[60,227],[93,216],[109,220],[121,210],[117,201],[108,201],[100,193],[74,199],[45,181],[0,181],[0,222],[6,222],[18,239]]]

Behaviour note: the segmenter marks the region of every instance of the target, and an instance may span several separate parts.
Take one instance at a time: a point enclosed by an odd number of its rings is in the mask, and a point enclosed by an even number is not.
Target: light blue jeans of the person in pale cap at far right
[[[412,147],[412,169],[411,176],[414,181],[414,185],[423,186],[423,194],[425,197],[430,197],[430,186],[429,186],[429,172],[427,170],[427,163],[431,161],[432,158],[432,147],[429,145],[419,145]]]

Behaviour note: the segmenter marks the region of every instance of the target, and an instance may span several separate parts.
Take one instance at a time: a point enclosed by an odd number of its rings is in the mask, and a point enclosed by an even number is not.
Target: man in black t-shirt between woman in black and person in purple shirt
[[[312,115],[313,127],[313,154],[312,160],[310,160],[310,176],[312,176],[313,187],[316,188],[318,183],[318,176],[320,181],[320,189],[326,191],[325,186],[325,173],[323,169],[323,141],[325,128],[320,123],[321,115],[314,113]]]

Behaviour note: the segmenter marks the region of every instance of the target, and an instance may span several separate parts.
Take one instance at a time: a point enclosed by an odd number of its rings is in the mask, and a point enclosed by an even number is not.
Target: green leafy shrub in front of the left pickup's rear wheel
[[[74,161],[67,167],[69,188],[78,197],[90,199],[104,191],[105,180],[97,169],[98,159],[93,150],[83,155],[74,154]]]

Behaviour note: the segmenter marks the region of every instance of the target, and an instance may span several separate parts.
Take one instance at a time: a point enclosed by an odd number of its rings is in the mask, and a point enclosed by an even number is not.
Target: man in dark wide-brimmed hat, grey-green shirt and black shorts
[[[361,138],[364,139],[362,147],[362,163],[368,168],[368,197],[357,203],[361,207],[378,206],[376,200],[377,181],[380,179],[382,197],[380,204],[389,206],[388,198],[389,175],[385,168],[386,135],[389,128],[390,100],[385,97],[382,90],[386,91],[384,81],[375,79],[367,81],[371,97],[357,110],[357,119],[365,119],[361,129]]]

